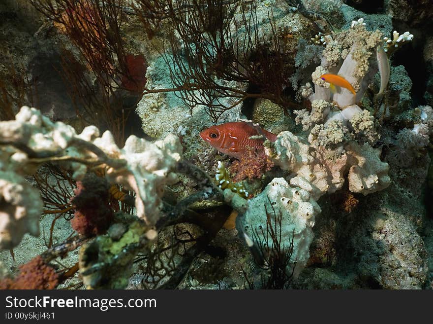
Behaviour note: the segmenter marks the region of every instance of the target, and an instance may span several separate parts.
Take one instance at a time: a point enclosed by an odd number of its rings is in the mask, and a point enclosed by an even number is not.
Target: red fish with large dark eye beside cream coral
[[[277,135],[264,129],[263,135],[271,141],[277,140]],[[238,160],[247,152],[247,147],[252,147],[257,151],[263,150],[263,140],[251,140],[249,137],[259,134],[257,129],[244,122],[225,123],[211,126],[200,133],[203,141],[214,146],[218,151],[234,156]]]

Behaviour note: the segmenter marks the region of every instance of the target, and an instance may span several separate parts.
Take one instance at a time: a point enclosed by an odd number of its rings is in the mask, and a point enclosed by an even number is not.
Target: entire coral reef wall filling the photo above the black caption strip
[[[412,2],[1,3],[1,288],[432,288]]]

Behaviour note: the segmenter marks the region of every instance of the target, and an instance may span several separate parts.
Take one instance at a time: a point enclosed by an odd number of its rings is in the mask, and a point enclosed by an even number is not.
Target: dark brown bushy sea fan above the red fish
[[[138,2],[143,8],[149,8],[152,1]],[[235,15],[238,7],[240,14]],[[269,99],[286,113],[297,106],[284,93],[293,62],[288,62],[288,56],[283,54],[272,15],[268,17],[269,36],[261,35],[254,6],[247,13],[239,1],[168,1],[156,6],[156,12],[172,27],[171,54],[165,54],[164,58],[175,85],[175,95],[191,112],[194,107],[204,105],[216,121],[224,111],[247,98]],[[137,14],[141,15],[144,25],[153,24],[142,10]],[[232,81],[256,90],[233,87]],[[225,98],[233,98],[233,102],[228,104]]]

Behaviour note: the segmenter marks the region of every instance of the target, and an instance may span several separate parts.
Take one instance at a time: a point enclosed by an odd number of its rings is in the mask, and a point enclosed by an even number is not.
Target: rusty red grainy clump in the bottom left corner
[[[20,266],[18,275],[0,281],[0,289],[54,289],[59,275],[40,255]]]

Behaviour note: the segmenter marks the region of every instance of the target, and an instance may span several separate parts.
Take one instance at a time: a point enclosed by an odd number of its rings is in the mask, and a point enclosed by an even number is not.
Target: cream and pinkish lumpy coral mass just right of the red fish
[[[380,150],[367,143],[342,144],[335,154],[324,147],[310,146],[290,132],[281,132],[274,150],[267,153],[275,165],[290,171],[290,184],[308,191],[315,200],[340,189],[346,176],[349,189],[363,194],[382,190],[391,182],[388,164],[380,161]]]

